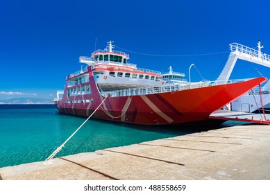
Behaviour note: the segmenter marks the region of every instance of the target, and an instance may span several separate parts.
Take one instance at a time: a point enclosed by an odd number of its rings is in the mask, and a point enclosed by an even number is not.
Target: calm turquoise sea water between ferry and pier
[[[85,118],[58,113],[54,105],[0,105],[0,168],[47,159],[84,121]],[[56,157],[178,136],[194,130],[90,119]]]

